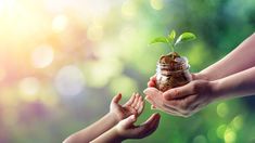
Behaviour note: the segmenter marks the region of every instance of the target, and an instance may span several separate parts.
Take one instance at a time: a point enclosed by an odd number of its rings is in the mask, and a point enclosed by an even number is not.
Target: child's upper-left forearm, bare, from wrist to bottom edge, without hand
[[[117,122],[118,121],[115,116],[109,113],[88,128],[80,130],[75,134],[72,134],[64,141],[64,143],[88,143],[104,133],[105,131],[110,130]]]

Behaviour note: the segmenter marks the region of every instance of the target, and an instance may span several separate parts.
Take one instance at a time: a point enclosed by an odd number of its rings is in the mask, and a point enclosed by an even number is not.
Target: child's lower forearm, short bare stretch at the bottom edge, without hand
[[[91,143],[122,143],[125,139],[120,138],[116,128],[112,128],[107,132],[103,133]]]

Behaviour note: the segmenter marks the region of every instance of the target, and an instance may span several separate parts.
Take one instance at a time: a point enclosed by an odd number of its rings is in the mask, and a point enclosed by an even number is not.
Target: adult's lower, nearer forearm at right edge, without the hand
[[[212,81],[216,99],[231,99],[255,94],[255,67]]]

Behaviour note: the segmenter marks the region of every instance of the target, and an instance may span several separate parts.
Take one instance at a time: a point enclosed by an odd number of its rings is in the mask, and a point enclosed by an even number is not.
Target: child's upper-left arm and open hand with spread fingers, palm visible
[[[120,99],[120,93],[114,96],[106,115],[84,130],[69,135],[63,143],[88,143],[130,115],[139,116],[142,113],[144,101],[140,94],[133,93],[124,105],[118,104]]]

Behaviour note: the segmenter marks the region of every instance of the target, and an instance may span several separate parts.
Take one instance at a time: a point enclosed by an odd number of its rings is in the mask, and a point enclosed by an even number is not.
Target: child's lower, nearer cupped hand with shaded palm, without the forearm
[[[116,133],[123,140],[125,139],[142,139],[150,134],[152,134],[158,123],[160,123],[161,116],[160,114],[153,114],[145,122],[139,126],[135,126],[133,123],[137,120],[135,115],[129,116],[128,118],[118,122],[115,127]]]

